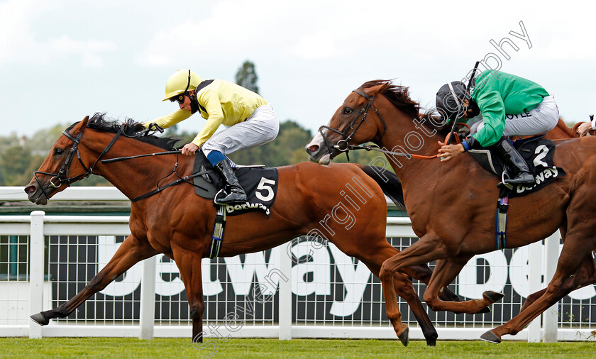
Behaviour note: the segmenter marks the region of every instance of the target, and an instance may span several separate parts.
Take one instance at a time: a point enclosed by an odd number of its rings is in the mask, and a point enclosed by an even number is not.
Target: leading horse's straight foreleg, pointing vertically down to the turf
[[[180,270],[180,277],[186,288],[190,317],[192,319],[192,341],[203,342],[203,281],[201,276],[202,250],[187,250],[180,247],[172,248],[176,265]]]

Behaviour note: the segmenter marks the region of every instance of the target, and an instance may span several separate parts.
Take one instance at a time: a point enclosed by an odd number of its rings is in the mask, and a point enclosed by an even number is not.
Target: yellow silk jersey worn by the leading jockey
[[[259,106],[268,104],[255,92],[221,79],[214,79],[195,95],[199,101],[199,112],[207,120],[201,132],[192,140],[197,146],[209,140],[219,125],[233,126],[250,117]],[[190,116],[190,111],[178,109],[172,114],[144,122],[143,126],[148,127],[155,122],[162,128],[168,128]]]

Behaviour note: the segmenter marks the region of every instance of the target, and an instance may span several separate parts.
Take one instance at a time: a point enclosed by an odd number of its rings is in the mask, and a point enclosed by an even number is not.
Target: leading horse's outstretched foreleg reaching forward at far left
[[[158,251],[153,249],[147,241],[140,241],[133,235],[128,236],[120,245],[120,248],[116,250],[114,257],[111,258],[104,269],[100,270],[81,292],[75,295],[75,297],[72,297],[72,299],[65,304],[58,306],[56,309],[33,314],[31,319],[38,324],[45,326],[50,322],[50,319],[65,318],[69,316],[79,305],[83,304],[84,301],[96,292],[104,289],[110,282],[123,274],[123,272],[126,272],[130,267],[138,263],[140,260],[150,258],[156,254],[158,254]]]

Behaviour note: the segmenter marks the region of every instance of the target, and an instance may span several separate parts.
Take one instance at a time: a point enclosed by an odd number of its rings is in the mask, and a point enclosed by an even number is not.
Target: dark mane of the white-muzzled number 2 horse
[[[374,87],[380,84],[385,85],[385,88],[382,90],[383,96],[396,106],[397,109],[404,111],[411,118],[426,120],[424,121],[424,125],[431,131],[436,130],[438,134],[447,136],[451,130],[451,126],[448,126],[445,123],[440,123],[441,121],[435,116],[434,109],[426,111],[424,114],[420,114],[420,105],[418,102],[410,99],[408,87],[393,84],[391,80],[387,79],[375,79],[373,81],[365,82],[361,88],[368,89],[369,87]],[[430,121],[431,118],[432,121]]]

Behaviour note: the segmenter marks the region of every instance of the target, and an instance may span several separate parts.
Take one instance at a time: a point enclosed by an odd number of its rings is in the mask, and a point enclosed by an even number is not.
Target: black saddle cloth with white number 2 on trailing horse
[[[551,182],[565,175],[565,170],[557,167],[553,162],[555,153],[555,143],[535,136],[524,140],[516,140],[512,143],[513,147],[526,160],[530,172],[536,177],[536,184],[514,186],[509,192],[509,197],[521,197],[526,194],[543,189]],[[491,153],[488,149],[470,150],[470,155],[485,168],[495,175],[501,177],[505,170],[505,165],[501,158]]]

